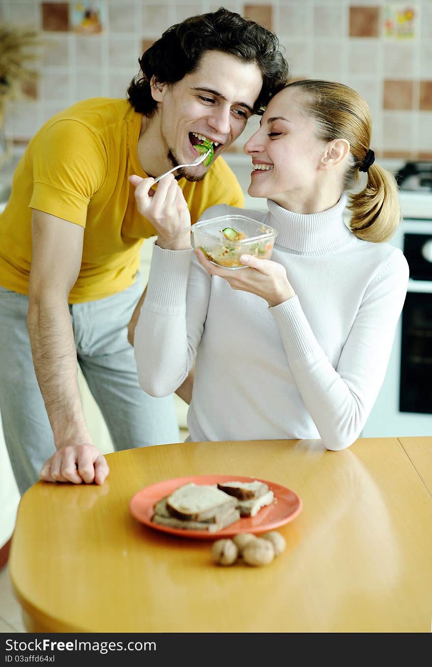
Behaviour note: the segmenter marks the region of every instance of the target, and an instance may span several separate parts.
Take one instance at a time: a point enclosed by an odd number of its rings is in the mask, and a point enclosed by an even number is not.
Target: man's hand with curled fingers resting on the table
[[[103,484],[109,474],[105,457],[91,444],[61,447],[45,461],[39,477],[44,482]]]

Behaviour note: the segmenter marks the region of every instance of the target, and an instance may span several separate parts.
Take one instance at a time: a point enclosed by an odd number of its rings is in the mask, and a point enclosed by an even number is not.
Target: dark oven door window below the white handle
[[[432,293],[407,293],[401,342],[399,410],[432,413]]]

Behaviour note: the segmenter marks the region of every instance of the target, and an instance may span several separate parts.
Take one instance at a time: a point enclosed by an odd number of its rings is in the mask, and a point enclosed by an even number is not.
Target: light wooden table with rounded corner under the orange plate
[[[397,438],[342,452],[317,440],[186,443],[107,460],[101,487],[39,482],[21,500],[9,571],[30,632],[430,632],[432,498]],[[303,510],[279,528],[285,552],[222,568],[211,542],[129,513],[144,486],[199,474],[297,492]]]

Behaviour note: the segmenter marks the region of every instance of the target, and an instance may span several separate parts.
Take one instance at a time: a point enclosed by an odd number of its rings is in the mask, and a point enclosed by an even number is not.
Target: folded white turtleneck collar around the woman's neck
[[[323,255],[345,245],[352,232],[343,221],[347,195],[342,194],[335,206],[321,213],[293,213],[267,199],[267,223],[277,229],[276,245],[300,254]]]

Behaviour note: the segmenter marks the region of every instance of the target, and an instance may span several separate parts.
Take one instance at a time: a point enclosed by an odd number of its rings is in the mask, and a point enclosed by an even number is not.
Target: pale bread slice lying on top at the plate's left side
[[[167,497],[167,510],[171,516],[187,521],[213,520],[219,522],[227,510],[236,506],[236,499],[217,486],[184,484]]]

